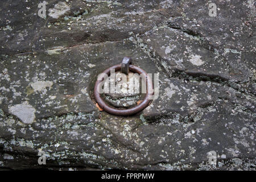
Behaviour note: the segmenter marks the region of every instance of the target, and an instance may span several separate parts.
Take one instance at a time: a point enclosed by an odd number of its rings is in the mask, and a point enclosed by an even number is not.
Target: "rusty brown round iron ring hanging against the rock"
[[[110,69],[115,69],[115,71],[120,71],[121,70],[121,64],[117,64],[114,65],[113,67],[110,67],[108,69],[106,69],[104,72],[106,75],[110,75]],[[131,72],[135,72],[140,74],[144,74],[146,77],[146,83],[147,83],[147,91],[146,91],[146,96],[144,97],[144,100],[137,106],[132,107],[130,109],[115,109],[113,107],[110,107],[108,104],[106,104],[104,102],[104,100],[102,100],[102,98],[100,97],[100,93],[98,92],[98,86],[100,85],[100,82],[103,81],[102,80],[97,80],[94,86],[94,98],[96,99],[98,105],[105,110],[107,113],[113,114],[113,115],[122,115],[122,116],[127,116],[127,115],[132,115],[135,113],[138,113],[139,111],[142,111],[143,109],[145,109],[148,105],[150,105],[151,101],[150,97],[154,94],[153,92],[153,88],[152,88],[152,81],[151,79],[148,79],[148,75],[147,72],[145,72],[143,69],[135,67],[135,65],[129,65],[129,70]],[[148,92],[150,90],[150,92]]]

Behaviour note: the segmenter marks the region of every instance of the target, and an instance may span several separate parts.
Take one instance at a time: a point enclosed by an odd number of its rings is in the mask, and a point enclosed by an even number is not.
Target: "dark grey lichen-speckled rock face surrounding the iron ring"
[[[254,1],[1,3],[0,169],[255,170]],[[117,117],[92,93],[125,56],[159,92]]]

